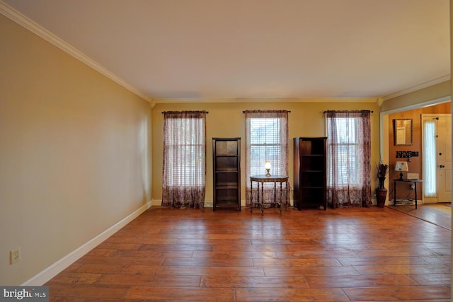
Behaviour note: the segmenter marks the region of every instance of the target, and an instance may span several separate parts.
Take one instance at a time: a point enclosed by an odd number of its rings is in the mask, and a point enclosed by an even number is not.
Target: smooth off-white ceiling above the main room
[[[449,0],[4,0],[147,98],[378,98],[448,79]]]

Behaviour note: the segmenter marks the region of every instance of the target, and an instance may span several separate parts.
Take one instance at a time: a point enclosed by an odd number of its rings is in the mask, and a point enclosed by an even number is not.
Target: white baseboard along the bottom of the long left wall
[[[149,209],[151,207],[151,202],[148,202],[147,204],[144,204],[142,207],[137,209],[136,211],[132,212],[132,214],[126,216],[124,219],[121,219],[117,223],[115,223],[113,226],[110,226],[110,228],[106,229],[102,233],[100,233],[98,236],[92,238],[91,240],[88,240],[88,242],[84,243],[84,245],[81,245],[79,248],[76,248],[72,252],[70,252],[68,255],[62,257],[62,259],[58,260],[57,262],[53,263],[52,265],[46,267],[44,270],[39,272],[38,274],[35,274],[35,276],[31,277],[27,281],[23,282],[21,286],[42,286],[42,284],[45,284],[47,281],[55,277],[57,274],[62,272],[64,269],[69,267],[72,263],[74,263],[76,260],[79,260],[82,256],[84,256],[87,252],[90,250],[93,250],[93,248],[96,248],[100,243],[102,243],[104,240],[112,236],[114,233],[119,231],[122,227],[126,226],[127,223],[130,223],[132,220],[136,219],[140,214],[142,214],[144,211]]]

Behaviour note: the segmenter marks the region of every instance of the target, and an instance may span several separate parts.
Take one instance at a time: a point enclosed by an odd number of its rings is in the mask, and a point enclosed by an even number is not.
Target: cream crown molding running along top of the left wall
[[[42,39],[46,40],[47,42],[50,42],[52,45],[55,45],[56,47],[63,50],[64,52],[67,52],[67,54],[78,59],[82,63],[90,66],[91,68],[95,69],[96,71],[103,74],[104,76],[107,76],[109,79],[111,79],[112,81],[115,81],[115,83],[120,84],[121,86],[126,88],[128,91],[131,91],[132,93],[138,95],[140,98],[143,98],[144,100],[147,100],[149,102],[150,98],[148,95],[146,95],[142,91],[139,91],[139,89],[130,85],[130,83],[127,83],[126,81],[121,79],[119,76],[114,74],[112,71],[106,69],[104,66],[102,66],[98,62],[94,61],[90,57],[86,56],[79,50],[76,50],[76,48],[72,47],[67,42],[64,42],[64,40],[60,39],[53,33],[50,33],[49,30],[42,28],[41,25],[39,25],[38,23],[35,23],[35,21],[24,16],[22,13],[16,11],[16,9],[12,8],[11,6],[8,6],[8,4],[4,3],[1,0],[0,0],[0,13],[2,15],[6,16],[6,18],[10,18],[12,21],[14,21],[14,22],[18,23],[19,25],[23,26],[24,28],[30,30],[32,33],[35,33],[35,35],[42,37]]]

